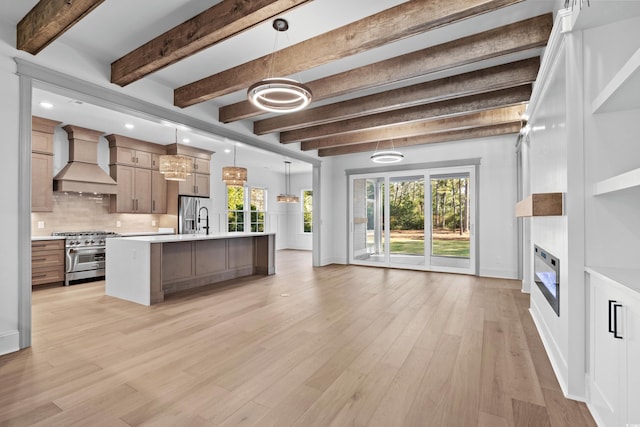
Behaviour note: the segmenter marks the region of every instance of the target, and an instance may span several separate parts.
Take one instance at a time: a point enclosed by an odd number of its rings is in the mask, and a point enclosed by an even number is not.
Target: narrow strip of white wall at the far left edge
[[[0,18],[2,19],[2,18]],[[0,129],[2,155],[0,168],[2,185],[0,204],[0,354],[18,349],[18,120],[19,94],[15,63],[11,59],[15,28],[0,22]],[[28,219],[27,219],[28,220]]]

